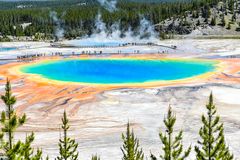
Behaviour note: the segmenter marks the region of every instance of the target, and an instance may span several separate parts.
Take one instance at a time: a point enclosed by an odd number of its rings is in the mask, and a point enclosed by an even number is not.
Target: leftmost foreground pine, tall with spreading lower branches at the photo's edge
[[[37,151],[37,154],[33,154],[31,143],[34,140],[34,135],[26,137],[26,141],[18,141],[14,143],[14,132],[26,121],[26,115],[19,117],[17,116],[13,105],[16,103],[16,98],[12,95],[10,81],[7,80],[5,87],[5,95],[1,96],[6,110],[1,113],[1,125],[2,133],[0,134],[1,148],[5,151],[6,156],[9,160],[15,159],[26,159],[26,160],[39,160],[41,159],[41,150]],[[4,137],[7,137],[6,139]]]

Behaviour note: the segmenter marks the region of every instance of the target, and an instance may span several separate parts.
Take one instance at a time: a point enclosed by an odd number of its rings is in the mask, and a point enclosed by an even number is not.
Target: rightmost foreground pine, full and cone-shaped
[[[223,123],[216,115],[216,107],[213,104],[212,93],[206,105],[207,116],[202,115],[203,126],[200,128],[199,135],[201,140],[195,146],[197,160],[232,160],[233,155],[226,146],[224,138]]]

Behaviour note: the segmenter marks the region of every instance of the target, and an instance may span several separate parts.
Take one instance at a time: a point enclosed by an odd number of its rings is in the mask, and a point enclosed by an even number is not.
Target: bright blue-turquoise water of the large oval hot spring
[[[189,78],[215,69],[214,62],[132,59],[59,60],[21,68],[29,74],[69,82],[117,84]]]

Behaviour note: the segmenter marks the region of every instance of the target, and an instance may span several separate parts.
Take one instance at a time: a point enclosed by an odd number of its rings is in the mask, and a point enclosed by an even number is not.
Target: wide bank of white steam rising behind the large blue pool
[[[71,40],[67,43],[73,45],[99,43],[158,43],[158,33],[154,26],[145,17],[141,17],[140,26],[137,31],[128,28],[127,31],[121,31],[120,22],[115,22],[110,28],[106,27],[101,14],[99,13],[95,19],[95,30],[90,36],[82,37],[78,40]]]

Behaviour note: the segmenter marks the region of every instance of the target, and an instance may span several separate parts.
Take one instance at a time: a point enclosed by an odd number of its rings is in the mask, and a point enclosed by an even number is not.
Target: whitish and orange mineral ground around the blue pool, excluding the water
[[[34,131],[35,147],[54,159],[58,154],[61,116],[64,109],[70,118],[70,136],[79,142],[80,159],[90,159],[98,153],[101,159],[121,159],[121,133],[129,120],[149,157],[150,151],[160,153],[159,130],[163,130],[163,118],[169,105],[177,115],[176,131],[183,129],[184,144],[194,146],[198,140],[200,118],[205,110],[208,95],[212,91],[218,113],[225,125],[226,139],[231,151],[240,157],[240,41],[239,40],[168,40],[164,45],[176,45],[177,50],[145,47],[144,53],[167,50],[167,57],[207,58],[228,61],[231,72],[218,73],[210,80],[184,85],[155,86],[150,88],[114,88],[96,92],[91,86],[56,86],[39,84],[25,77],[13,77],[13,90],[18,98],[16,109],[26,113],[28,122],[18,130],[16,138],[24,138]],[[2,46],[26,46],[25,43],[4,43]],[[0,46],[1,46],[0,45]],[[51,48],[48,43],[28,43],[28,48],[0,52],[0,59],[13,58],[26,53],[63,52],[71,54],[84,49]],[[106,53],[112,48],[100,49]],[[130,50],[136,50],[131,48]],[[85,49],[89,50],[89,49]],[[94,49],[96,50],[96,49]],[[127,48],[126,50],[129,50]],[[238,67],[236,67],[238,66]],[[2,70],[1,70],[2,69]],[[3,71],[4,69],[4,71]],[[6,68],[0,67],[0,72]],[[5,77],[2,76],[2,79]],[[0,76],[0,93],[4,92],[4,80]],[[47,93],[49,92],[49,93]],[[94,93],[94,94],[89,94]],[[51,96],[49,96],[51,95]],[[93,96],[92,96],[93,95]],[[0,102],[2,106],[2,103]],[[194,160],[194,152],[189,158]]]

